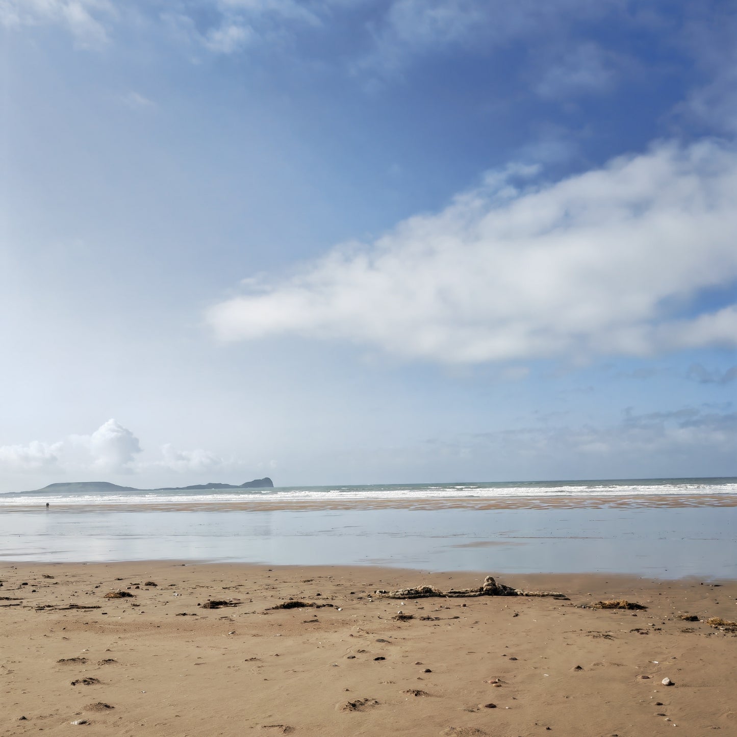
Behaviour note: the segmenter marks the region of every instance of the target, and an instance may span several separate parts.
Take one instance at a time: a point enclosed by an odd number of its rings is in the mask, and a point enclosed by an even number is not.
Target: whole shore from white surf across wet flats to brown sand
[[[737,496],[692,486],[6,495],[1,733],[737,735]]]

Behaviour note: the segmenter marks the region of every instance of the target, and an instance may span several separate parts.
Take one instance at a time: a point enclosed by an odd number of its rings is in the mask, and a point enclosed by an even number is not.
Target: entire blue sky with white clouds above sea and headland
[[[0,491],[737,475],[737,10],[0,0]]]

